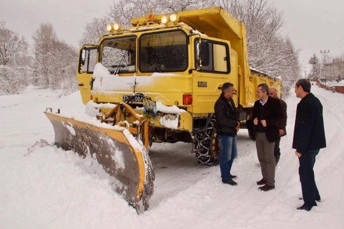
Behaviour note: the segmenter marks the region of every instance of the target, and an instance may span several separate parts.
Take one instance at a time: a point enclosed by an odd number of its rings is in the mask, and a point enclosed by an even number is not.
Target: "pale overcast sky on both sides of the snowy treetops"
[[[284,14],[283,33],[301,49],[300,63],[307,66],[313,53],[344,53],[344,0],[269,0]],[[65,42],[78,46],[83,26],[107,12],[113,0],[0,0],[0,18],[7,28],[31,36],[40,23],[50,22]]]

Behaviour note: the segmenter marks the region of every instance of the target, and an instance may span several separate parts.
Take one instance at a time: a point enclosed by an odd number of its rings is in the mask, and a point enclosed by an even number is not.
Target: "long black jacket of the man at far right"
[[[326,147],[322,105],[309,93],[297,104],[293,148],[300,154]]]

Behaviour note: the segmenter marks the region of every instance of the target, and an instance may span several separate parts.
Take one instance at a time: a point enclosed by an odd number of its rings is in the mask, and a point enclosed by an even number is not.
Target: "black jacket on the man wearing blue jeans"
[[[232,106],[229,103],[232,103]],[[223,94],[217,99],[215,106],[216,130],[219,135],[235,136],[238,125],[237,110],[234,100],[229,101]]]

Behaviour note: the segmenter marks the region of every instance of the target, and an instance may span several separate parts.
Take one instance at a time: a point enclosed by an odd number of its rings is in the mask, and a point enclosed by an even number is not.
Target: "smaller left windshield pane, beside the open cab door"
[[[136,36],[104,40],[100,45],[101,63],[111,74],[135,72]]]

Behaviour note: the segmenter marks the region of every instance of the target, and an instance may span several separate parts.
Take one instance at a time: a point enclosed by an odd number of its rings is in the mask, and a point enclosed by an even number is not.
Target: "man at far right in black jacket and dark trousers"
[[[321,148],[326,147],[322,118],[322,105],[311,93],[311,83],[301,79],[295,84],[297,104],[293,148],[299,158],[299,175],[304,204],[297,209],[310,211],[320,201],[320,195],[314,179],[315,157]]]

